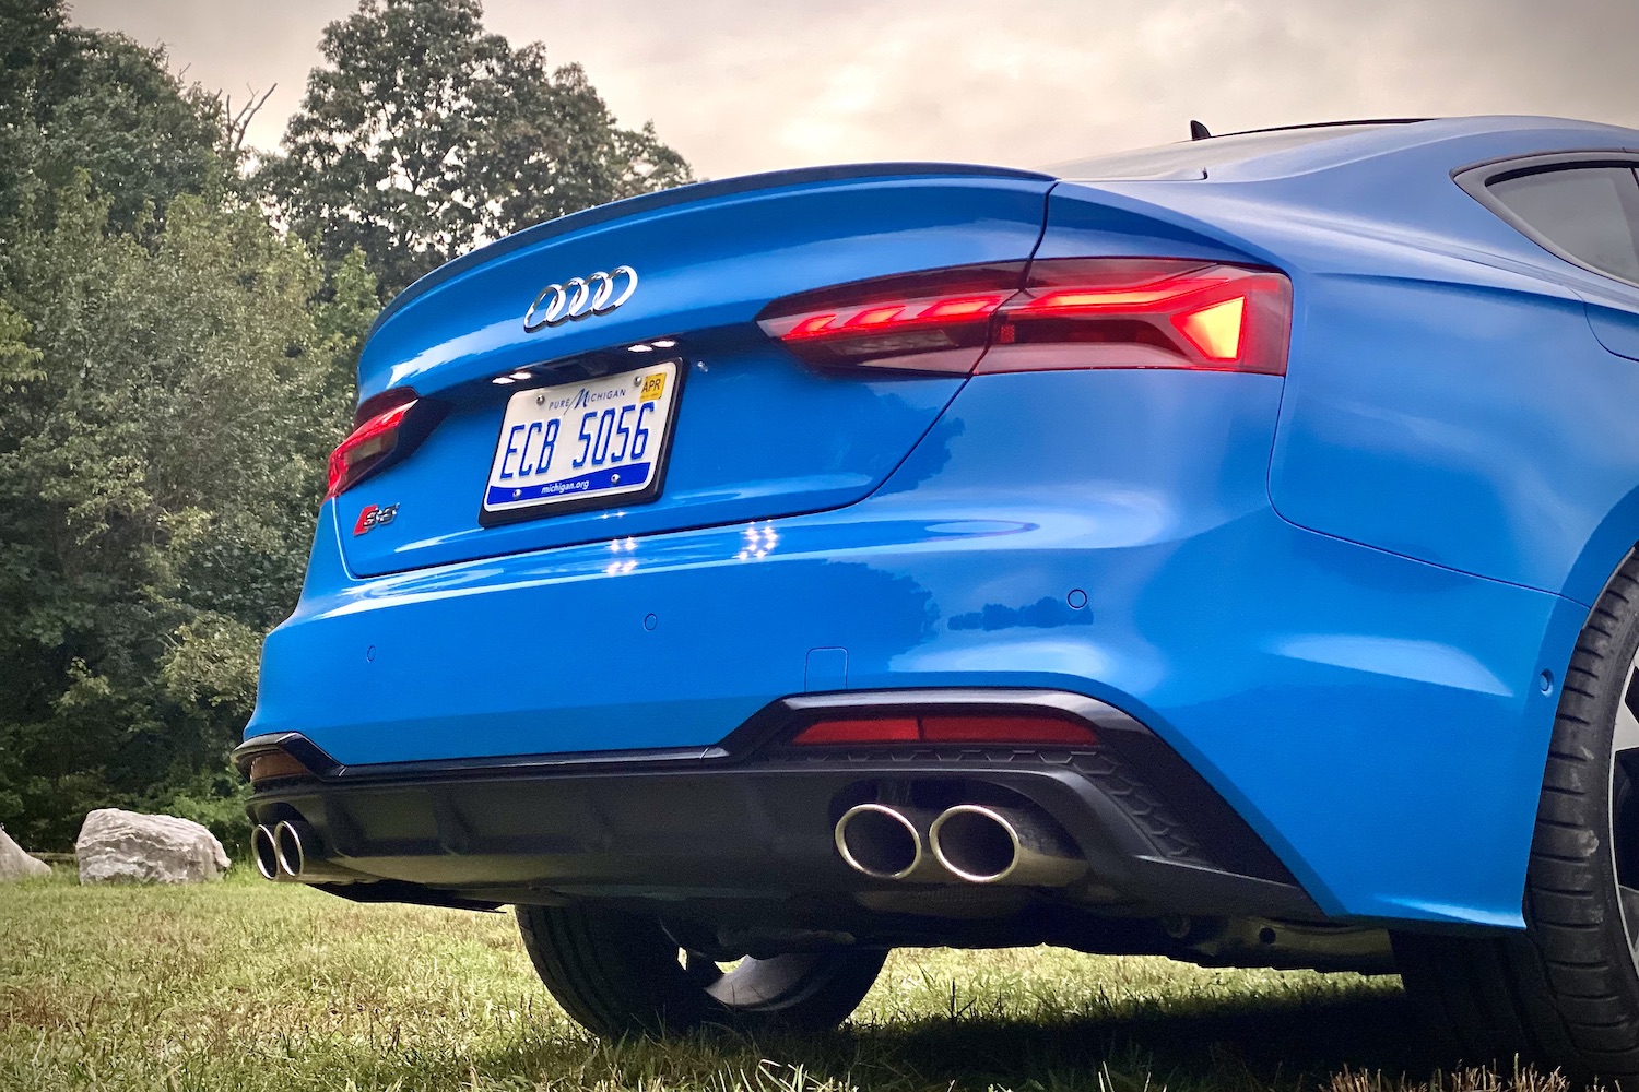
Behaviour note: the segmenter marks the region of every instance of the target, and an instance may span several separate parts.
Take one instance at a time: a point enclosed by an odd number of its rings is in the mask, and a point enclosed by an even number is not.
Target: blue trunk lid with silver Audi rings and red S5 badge
[[[413,388],[439,421],[413,452],[331,501],[349,570],[382,575],[864,498],[962,377],[815,368],[770,341],[757,314],[792,293],[901,272],[997,264],[1023,273],[1051,185],[1003,169],[782,172],[590,210],[452,262],[403,293],[365,345],[361,393]],[[659,391],[659,375],[672,416],[651,452],[656,488],[505,508],[497,475],[544,453],[528,414],[546,413],[549,393],[595,399],[621,377]],[[577,409],[564,429],[579,419]],[[533,453],[518,440],[534,442]]]

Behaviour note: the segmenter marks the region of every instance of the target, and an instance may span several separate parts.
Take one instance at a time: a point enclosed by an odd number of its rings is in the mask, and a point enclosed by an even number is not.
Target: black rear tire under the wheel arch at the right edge
[[[1519,1054],[1639,1084],[1639,555],[1600,594],[1562,683],[1526,871],[1523,935],[1400,933],[1442,1053]]]

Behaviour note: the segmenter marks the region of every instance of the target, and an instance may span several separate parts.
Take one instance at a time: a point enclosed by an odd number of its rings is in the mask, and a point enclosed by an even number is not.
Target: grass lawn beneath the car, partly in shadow
[[[511,915],[365,907],[236,869],[192,887],[0,887],[0,1089],[1564,1089],[1431,1074],[1393,977],[1049,948],[898,951],[849,1027],[605,1045]],[[1406,1076],[1411,1074],[1411,1076]]]

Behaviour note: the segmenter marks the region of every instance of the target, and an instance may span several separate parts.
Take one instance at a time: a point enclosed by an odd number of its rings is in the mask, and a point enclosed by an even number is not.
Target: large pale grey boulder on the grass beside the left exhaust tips
[[[80,858],[82,884],[120,879],[192,884],[218,879],[228,868],[221,843],[197,822],[118,807],[100,807],[87,815],[74,851]]]

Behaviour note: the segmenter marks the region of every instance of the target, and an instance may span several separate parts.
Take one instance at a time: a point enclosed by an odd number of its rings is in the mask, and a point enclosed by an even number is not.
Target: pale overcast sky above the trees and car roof
[[[277,146],[356,0],[70,0],[187,79],[277,83]],[[1544,113],[1639,128],[1639,0],[488,0],[703,177],[864,159],[1039,165],[1300,121]]]

